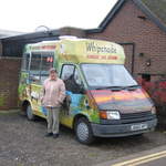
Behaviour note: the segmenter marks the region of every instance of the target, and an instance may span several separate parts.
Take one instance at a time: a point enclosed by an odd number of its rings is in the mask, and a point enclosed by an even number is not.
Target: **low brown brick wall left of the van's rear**
[[[20,64],[20,59],[0,58],[0,111],[18,106]]]

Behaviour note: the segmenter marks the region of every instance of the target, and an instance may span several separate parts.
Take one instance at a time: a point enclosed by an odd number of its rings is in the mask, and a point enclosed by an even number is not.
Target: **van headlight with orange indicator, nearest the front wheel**
[[[105,120],[121,120],[118,111],[101,111],[100,116]]]

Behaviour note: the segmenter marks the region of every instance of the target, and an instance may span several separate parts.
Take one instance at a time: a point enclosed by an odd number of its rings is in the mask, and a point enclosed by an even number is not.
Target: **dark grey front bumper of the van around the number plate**
[[[146,125],[146,128],[135,128],[133,126]],[[118,125],[101,125],[101,124],[91,124],[93,135],[98,137],[123,137],[129,135],[137,135],[147,132],[152,132],[155,129],[157,125],[157,118],[141,122],[141,123],[132,123],[132,124],[118,124]]]

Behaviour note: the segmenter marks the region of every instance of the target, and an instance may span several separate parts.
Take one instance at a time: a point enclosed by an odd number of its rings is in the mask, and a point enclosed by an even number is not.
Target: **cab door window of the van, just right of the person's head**
[[[81,93],[81,80],[74,65],[63,65],[61,79],[64,81],[66,91],[75,94]]]

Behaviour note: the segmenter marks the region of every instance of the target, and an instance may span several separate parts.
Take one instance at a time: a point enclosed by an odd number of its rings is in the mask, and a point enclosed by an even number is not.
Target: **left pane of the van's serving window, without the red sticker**
[[[40,82],[41,53],[32,53],[30,64],[30,81]]]

